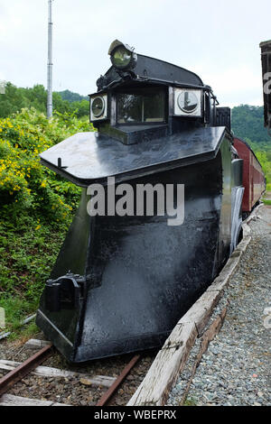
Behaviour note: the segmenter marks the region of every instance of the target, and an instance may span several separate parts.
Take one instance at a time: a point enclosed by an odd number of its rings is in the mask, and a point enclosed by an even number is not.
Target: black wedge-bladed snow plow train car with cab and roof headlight
[[[241,232],[243,161],[233,147],[230,109],[218,107],[211,88],[189,70],[120,41],[108,53],[112,66],[89,96],[97,132],[41,154],[43,165],[82,188],[36,318],[74,363],[162,346]],[[103,187],[107,198],[113,179],[116,203],[121,185],[134,193],[153,187],[154,214],[144,207],[119,216],[106,200],[104,215],[89,216],[89,185]],[[169,210],[156,213],[156,185],[182,185],[181,225]],[[135,209],[137,201],[135,193]]]

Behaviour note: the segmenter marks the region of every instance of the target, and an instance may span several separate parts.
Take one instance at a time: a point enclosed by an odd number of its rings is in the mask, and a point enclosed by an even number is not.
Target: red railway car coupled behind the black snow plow
[[[234,137],[234,147],[238,156],[243,159],[243,186],[245,188],[242,202],[242,213],[247,215],[266,189],[264,171],[257,160],[255,153],[248,143],[238,137]]]

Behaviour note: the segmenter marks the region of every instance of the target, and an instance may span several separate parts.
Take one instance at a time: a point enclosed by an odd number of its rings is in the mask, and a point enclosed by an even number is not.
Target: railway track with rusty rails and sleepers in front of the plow
[[[0,406],[126,405],[152,363],[148,353],[73,365],[66,363],[51,344],[30,342],[15,349],[16,361],[1,359],[0,354],[0,375],[4,373],[0,378]],[[33,348],[36,352],[30,355]],[[18,362],[20,355],[21,359],[28,357]],[[102,370],[107,375],[100,374]]]

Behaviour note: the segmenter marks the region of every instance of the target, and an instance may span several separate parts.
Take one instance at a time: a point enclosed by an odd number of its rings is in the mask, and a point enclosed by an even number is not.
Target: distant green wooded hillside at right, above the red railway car
[[[240,138],[254,143],[271,143],[264,127],[264,106],[240,105],[231,109],[231,127]]]

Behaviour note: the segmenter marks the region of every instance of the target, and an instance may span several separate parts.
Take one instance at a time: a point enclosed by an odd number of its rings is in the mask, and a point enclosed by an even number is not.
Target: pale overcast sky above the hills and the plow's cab
[[[222,106],[263,104],[270,0],[54,0],[52,21],[53,90],[96,91],[117,38],[197,73]],[[47,0],[0,0],[0,79],[46,87],[47,23]]]

